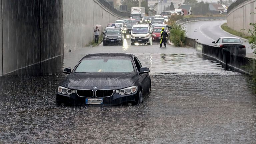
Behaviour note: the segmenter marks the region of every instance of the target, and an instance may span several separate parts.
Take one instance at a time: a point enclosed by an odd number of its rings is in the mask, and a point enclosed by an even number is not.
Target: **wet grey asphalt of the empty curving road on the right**
[[[234,37],[221,29],[221,25],[227,22],[226,20],[216,21],[199,21],[191,22],[183,25],[187,31],[189,38],[198,39],[199,42],[207,45],[213,45],[213,41],[217,41],[220,37]],[[236,37],[236,36],[235,36]],[[250,44],[247,40],[241,39],[246,46],[246,53],[252,53]]]

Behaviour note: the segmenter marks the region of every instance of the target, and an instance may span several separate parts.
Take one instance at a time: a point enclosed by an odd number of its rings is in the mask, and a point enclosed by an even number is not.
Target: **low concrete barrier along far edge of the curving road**
[[[190,22],[196,21],[209,21],[209,20],[226,20],[226,17],[195,17],[195,18],[184,18],[176,21],[177,24],[183,25]]]

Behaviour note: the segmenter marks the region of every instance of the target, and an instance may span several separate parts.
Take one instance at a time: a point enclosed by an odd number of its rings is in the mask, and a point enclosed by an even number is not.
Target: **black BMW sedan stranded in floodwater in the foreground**
[[[57,105],[135,105],[151,90],[149,68],[132,54],[89,54],[63,72]]]

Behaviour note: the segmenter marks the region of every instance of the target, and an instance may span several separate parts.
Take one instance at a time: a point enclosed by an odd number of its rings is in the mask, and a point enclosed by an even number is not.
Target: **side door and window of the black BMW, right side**
[[[139,72],[140,68],[142,66],[141,66],[141,63],[140,63],[140,61],[138,60],[137,57],[134,57],[134,62],[135,62],[135,65],[137,67],[137,70]],[[148,73],[140,74],[139,82],[141,83],[143,96],[145,96],[145,94],[148,93],[148,90],[149,90]]]

